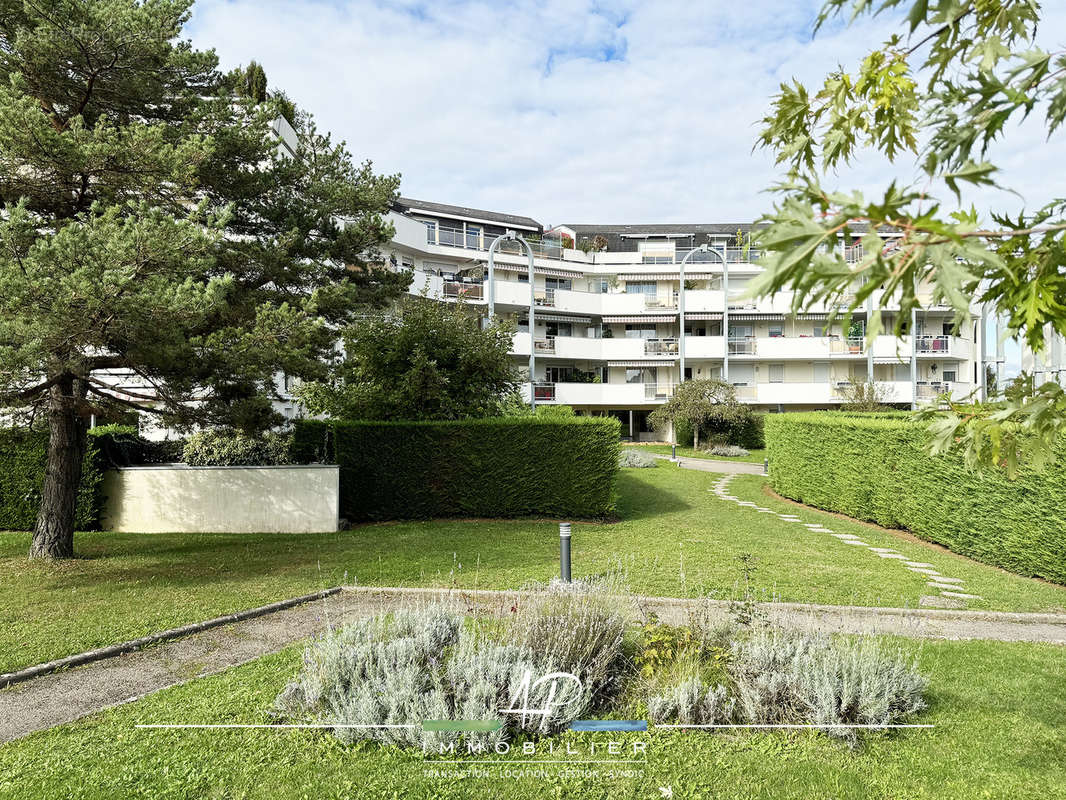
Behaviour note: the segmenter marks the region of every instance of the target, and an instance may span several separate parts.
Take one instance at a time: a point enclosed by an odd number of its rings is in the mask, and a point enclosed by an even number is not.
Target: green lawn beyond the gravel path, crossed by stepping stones
[[[784,601],[917,606],[925,579],[827,534],[715,497],[718,476],[661,464],[623,470],[615,524],[574,527],[576,576],[619,566],[633,591],[733,596],[738,557],[753,554],[755,586]],[[772,508],[764,479],[734,494]],[[1011,575],[817,511],[874,546],[899,549],[963,578],[971,608],[1062,611],[1066,588]],[[81,533],[80,559],[26,558],[27,533],[0,533],[0,672],[132,639],[338,583],[513,589],[559,570],[552,522],[436,521],[368,525],[328,534]]]

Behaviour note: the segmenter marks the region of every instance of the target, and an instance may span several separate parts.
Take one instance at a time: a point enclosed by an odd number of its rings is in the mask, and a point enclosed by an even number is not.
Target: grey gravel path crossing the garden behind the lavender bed
[[[461,610],[506,613],[520,592],[456,592],[434,589],[345,589],[320,601],[265,617],[212,628],[147,650],[56,672],[0,691],[0,742],[71,722],[275,653],[345,620],[408,604],[446,602]],[[645,612],[680,623],[693,611],[729,617],[726,601],[637,597]],[[761,605],[766,618],[809,630],[893,634],[933,639],[994,639],[1066,644],[1066,614],[943,611],[928,609]]]

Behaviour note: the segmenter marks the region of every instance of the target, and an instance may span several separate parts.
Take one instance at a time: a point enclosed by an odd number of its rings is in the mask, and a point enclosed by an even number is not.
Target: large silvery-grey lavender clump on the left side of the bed
[[[571,607],[574,610],[576,607]],[[577,620],[576,620],[577,621]],[[559,669],[543,653],[514,641],[500,641],[445,608],[404,610],[362,620],[312,643],[296,679],[275,701],[286,719],[318,724],[411,725],[411,727],[337,727],[344,741],[436,749],[465,738],[495,747],[516,731],[556,733],[588,707],[587,688],[572,702],[556,697],[550,716],[507,716],[491,732],[424,732],[426,719],[497,720],[529,687],[528,705],[542,707],[550,682],[535,682]],[[532,681],[530,678],[532,677]],[[572,684],[563,691],[575,691]],[[571,700],[569,695],[565,700]]]

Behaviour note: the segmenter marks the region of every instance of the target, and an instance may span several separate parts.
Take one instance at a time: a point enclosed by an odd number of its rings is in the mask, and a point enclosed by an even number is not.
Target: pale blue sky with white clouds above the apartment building
[[[776,173],[752,148],[778,84],[852,66],[889,30],[812,41],[819,4],[199,0],[189,31],[226,67],[261,62],[356,158],[403,173],[404,194],[545,223],[742,222],[769,203]],[[1028,125],[1012,143],[1006,181],[1041,202],[1062,138]],[[840,182],[911,174],[871,158]]]

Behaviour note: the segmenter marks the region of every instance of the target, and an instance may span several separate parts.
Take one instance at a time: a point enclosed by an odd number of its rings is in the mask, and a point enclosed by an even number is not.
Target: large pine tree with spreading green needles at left
[[[74,554],[91,415],[273,425],[276,371],[322,375],[406,282],[373,266],[398,178],[307,115],[282,155],[276,107],[181,41],[190,5],[0,0],[0,404],[49,431],[32,556]]]

